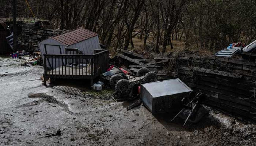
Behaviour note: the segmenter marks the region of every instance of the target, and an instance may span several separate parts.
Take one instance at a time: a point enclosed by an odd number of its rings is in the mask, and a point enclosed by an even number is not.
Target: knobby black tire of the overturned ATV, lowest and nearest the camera
[[[115,84],[115,91],[120,94],[127,96],[131,92],[132,87],[128,80],[121,79]]]

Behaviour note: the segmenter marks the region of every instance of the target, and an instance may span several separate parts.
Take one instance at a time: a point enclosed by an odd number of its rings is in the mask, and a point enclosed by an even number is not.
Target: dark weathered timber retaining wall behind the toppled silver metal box
[[[195,54],[176,61],[179,79],[205,93],[204,104],[241,119],[256,120],[254,61]]]

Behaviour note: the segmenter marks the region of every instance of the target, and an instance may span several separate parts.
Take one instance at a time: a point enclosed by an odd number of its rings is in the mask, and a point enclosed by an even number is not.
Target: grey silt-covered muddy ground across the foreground
[[[91,91],[88,80],[57,80],[43,67],[0,58],[0,145],[255,145],[256,126],[211,110],[199,123],[171,122],[133,101],[115,102],[112,90]],[[47,136],[60,129],[61,135]]]

